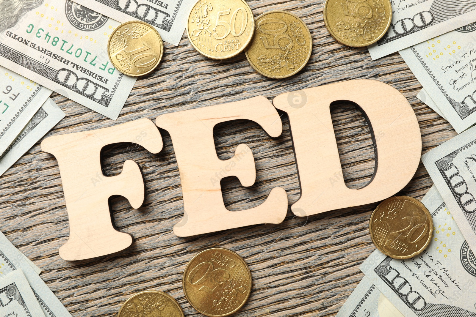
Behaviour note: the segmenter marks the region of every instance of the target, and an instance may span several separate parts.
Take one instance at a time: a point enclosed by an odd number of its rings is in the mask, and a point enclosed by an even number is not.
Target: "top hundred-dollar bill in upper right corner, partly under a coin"
[[[387,34],[368,47],[372,59],[387,56],[476,21],[475,0],[392,0],[391,2],[392,23]]]

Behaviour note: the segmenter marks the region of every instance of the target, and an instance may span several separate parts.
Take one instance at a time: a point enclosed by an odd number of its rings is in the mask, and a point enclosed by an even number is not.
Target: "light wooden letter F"
[[[162,137],[149,119],[107,128],[54,135],[41,142],[60,167],[69,218],[69,240],[60,248],[65,260],[90,259],[129,247],[132,236],[114,228],[109,197],[126,197],[133,208],[144,202],[144,180],[139,165],[127,160],[119,175],[107,177],[101,170],[101,149],[120,142],[133,142],[159,153]]]

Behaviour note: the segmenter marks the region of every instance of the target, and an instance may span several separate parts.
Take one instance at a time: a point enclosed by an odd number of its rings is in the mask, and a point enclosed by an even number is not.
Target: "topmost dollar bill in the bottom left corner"
[[[45,317],[21,269],[0,279],[0,316]]]

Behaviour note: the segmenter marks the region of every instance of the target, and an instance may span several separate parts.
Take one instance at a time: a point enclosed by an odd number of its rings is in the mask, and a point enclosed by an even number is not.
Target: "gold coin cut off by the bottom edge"
[[[146,290],[120,307],[118,317],[184,317],[177,301],[164,292]]]

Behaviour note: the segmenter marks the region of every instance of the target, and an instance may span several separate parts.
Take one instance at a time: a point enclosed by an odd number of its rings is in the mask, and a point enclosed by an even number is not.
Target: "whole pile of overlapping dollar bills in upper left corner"
[[[111,33],[142,20],[178,45],[195,2],[0,1],[0,175],[65,116],[53,91],[116,120],[136,78],[110,63]]]

